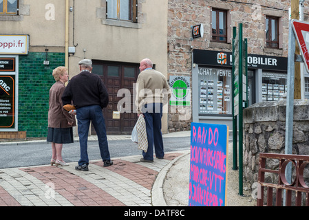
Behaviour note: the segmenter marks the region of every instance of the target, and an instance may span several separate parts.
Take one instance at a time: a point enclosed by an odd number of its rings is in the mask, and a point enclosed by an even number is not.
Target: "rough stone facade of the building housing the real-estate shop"
[[[308,20],[308,3],[304,6],[304,20]],[[198,74],[194,69],[200,69],[200,64],[195,62],[194,50],[205,52],[232,52],[233,27],[243,24],[243,37],[248,39],[248,54],[264,56],[264,58],[287,58],[288,55],[288,24],[290,1],[205,1],[205,0],[173,0],[168,4],[168,72],[169,76],[189,76],[191,77],[192,98],[190,107],[178,107],[169,111],[169,131],[182,131],[189,129],[190,122],[212,122],[219,124],[230,123],[221,121],[220,115],[203,115],[197,109],[200,106],[200,90],[194,92],[198,87],[194,83],[193,77]],[[222,10],[226,13],[226,42],[213,41],[213,10]],[[266,17],[277,19],[278,25],[278,46],[277,48],[266,45]],[[204,36],[199,39],[192,39],[192,26],[203,24]],[[207,63],[205,61],[203,65]],[[285,61],[284,61],[285,63]],[[209,66],[221,68],[220,65]],[[230,67],[231,69],[231,67]],[[251,69],[253,78],[252,90],[254,96],[250,104],[261,102],[262,83],[264,78],[271,72],[278,74],[279,69],[273,67],[257,67]],[[286,69],[280,74],[286,74]],[[285,80],[286,83],[286,80]],[[228,116],[228,115],[224,115]],[[231,114],[229,115],[231,116]],[[210,120],[215,118],[215,121]],[[226,117],[228,118],[228,117]],[[227,120],[227,121],[228,121]]]

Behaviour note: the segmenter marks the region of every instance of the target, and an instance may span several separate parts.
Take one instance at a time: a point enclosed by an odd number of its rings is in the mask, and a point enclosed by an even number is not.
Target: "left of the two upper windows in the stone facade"
[[[211,11],[212,41],[227,43],[227,11],[213,8]]]

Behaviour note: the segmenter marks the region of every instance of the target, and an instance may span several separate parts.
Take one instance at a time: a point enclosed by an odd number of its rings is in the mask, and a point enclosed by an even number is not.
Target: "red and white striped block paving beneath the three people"
[[[153,163],[140,155],[114,158],[89,171],[69,166],[30,166],[0,170],[0,206],[152,206],[151,190],[160,170],[182,152],[166,153]]]

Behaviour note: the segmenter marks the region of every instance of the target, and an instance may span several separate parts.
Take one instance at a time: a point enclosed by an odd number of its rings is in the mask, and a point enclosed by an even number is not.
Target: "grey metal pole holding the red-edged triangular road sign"
[[[292,30],[292,20],[288,28],[288,94],[286,96],[286,146],[285,153],[292,154],[293,110],[294,110],[294,72],[295,71],[295,35]],[[291,181],[292,164],[286,168],[286,180]],[[284,205],[286,201],[284,191]]]

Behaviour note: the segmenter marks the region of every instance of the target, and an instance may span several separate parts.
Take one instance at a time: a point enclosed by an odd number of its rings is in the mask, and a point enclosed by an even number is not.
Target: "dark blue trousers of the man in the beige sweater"
[[[153,144],[157,158],[164,157],[163,140],[161,132],[162,103],[145,104],[142,109],[145,116],[148,149],[147,152],[142,151],[144,159],[153,160]]]

